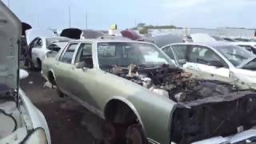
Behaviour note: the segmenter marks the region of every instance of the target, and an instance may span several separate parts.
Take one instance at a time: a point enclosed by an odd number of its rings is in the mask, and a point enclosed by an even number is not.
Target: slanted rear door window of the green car
[[[70,44],[70,46],[67,47],[66,51],[62,55],[62,58],[60,58],[60,61],[65,63],[71,63],[74,57],[74,51],[76,50],[77,46],[78,43]]]

